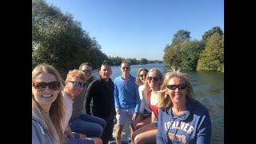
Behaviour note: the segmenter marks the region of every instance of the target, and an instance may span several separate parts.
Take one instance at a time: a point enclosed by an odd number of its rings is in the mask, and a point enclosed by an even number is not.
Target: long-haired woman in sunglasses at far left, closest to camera
[[[53,66],[32,71],[32,143],[64,143],[62,78]]]

